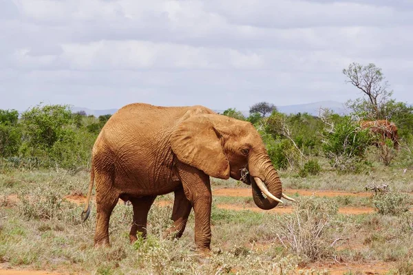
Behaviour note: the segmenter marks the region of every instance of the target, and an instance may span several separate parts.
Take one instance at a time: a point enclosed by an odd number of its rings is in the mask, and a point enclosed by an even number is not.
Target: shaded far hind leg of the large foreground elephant
[[[136,236],[137,231],[142,232],[142,236],[146,237],[148,212],[155,199],[156,196],[133,197],[129,199],[134,207],[134,222],[132,223],[131,231],[129,232],[129,241],[131,243],[134,243],[138,239]]]

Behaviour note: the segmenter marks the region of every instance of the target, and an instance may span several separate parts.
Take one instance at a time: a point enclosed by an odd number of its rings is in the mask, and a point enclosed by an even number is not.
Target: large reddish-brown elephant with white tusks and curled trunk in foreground
[[[136,232],[146,236],[147,214],[158,195],[174,192],[173,225],[166,235],[182,236],[193,208],[195,245],[211,243],[210,177],[251,185],[255,204],[275,208],[284,195],[279,175],[253,124],[219,115],[202,106],[158,107],[145,103],[119,109],[100,131],[92,148],[87,202],[89,217],[96,185],[95,247],[109,246],[109,219],[119,198],[131,201]],[[265,195],[265,197],[264,197]]]

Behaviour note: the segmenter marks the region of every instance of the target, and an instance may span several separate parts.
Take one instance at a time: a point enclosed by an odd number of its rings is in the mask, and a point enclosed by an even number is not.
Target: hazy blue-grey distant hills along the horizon
[[[309,113],[311,115],[318,115],[319,114],[319,109],[320,108],[327,108],[330,109],[330,111],[334,111],[335,113],[338,113],[340,115],[348,113],[348,109],[346,109],[346,106],[337,101],[319,101],[319,102],[313,102],[313,103],[308,103],[308,104],[296,104],[296,105],[287,105],[287,106],[277,106],[278,111],[281,113]],[[105,110],[92,110],[92,109],[87,109],[87,108],[82,108],[82,107],[72,107],[73,112],[78,112],[78,111],[85,111],[87,115],[94,115],[94,116],[99,116],[99,115],[107,115],[107,114],[113,114],[118,109],[105,109]],[[223,113],[224,110],[213,110],[216,111],[217,113]],[[240,110],[245,116],[249,115],[248,111],[245,110]]]

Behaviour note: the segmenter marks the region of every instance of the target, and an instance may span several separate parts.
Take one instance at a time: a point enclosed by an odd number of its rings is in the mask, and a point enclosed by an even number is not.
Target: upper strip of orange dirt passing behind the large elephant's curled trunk
[[[350,197],[371,197],[369,192],[341,192],[333,190],[306,190],[306,189],[284,189],[284,193],[287,195],[299,194],[300,196],[312,196],[317,197],[337,197],[337,196],[350,196]],[[212,191],[215,196],[222,197],[251,197],[251,188],[219,188]]]

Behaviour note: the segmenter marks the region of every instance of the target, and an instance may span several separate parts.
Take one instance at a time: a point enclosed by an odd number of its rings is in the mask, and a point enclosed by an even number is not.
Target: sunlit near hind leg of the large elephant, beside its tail
[[[94,236],[95,247],[109,247],[109,219],[118,203],[117,192],[99,192],[96,190],[96,232]],[[106,191],[106,190],[105,190]]]

